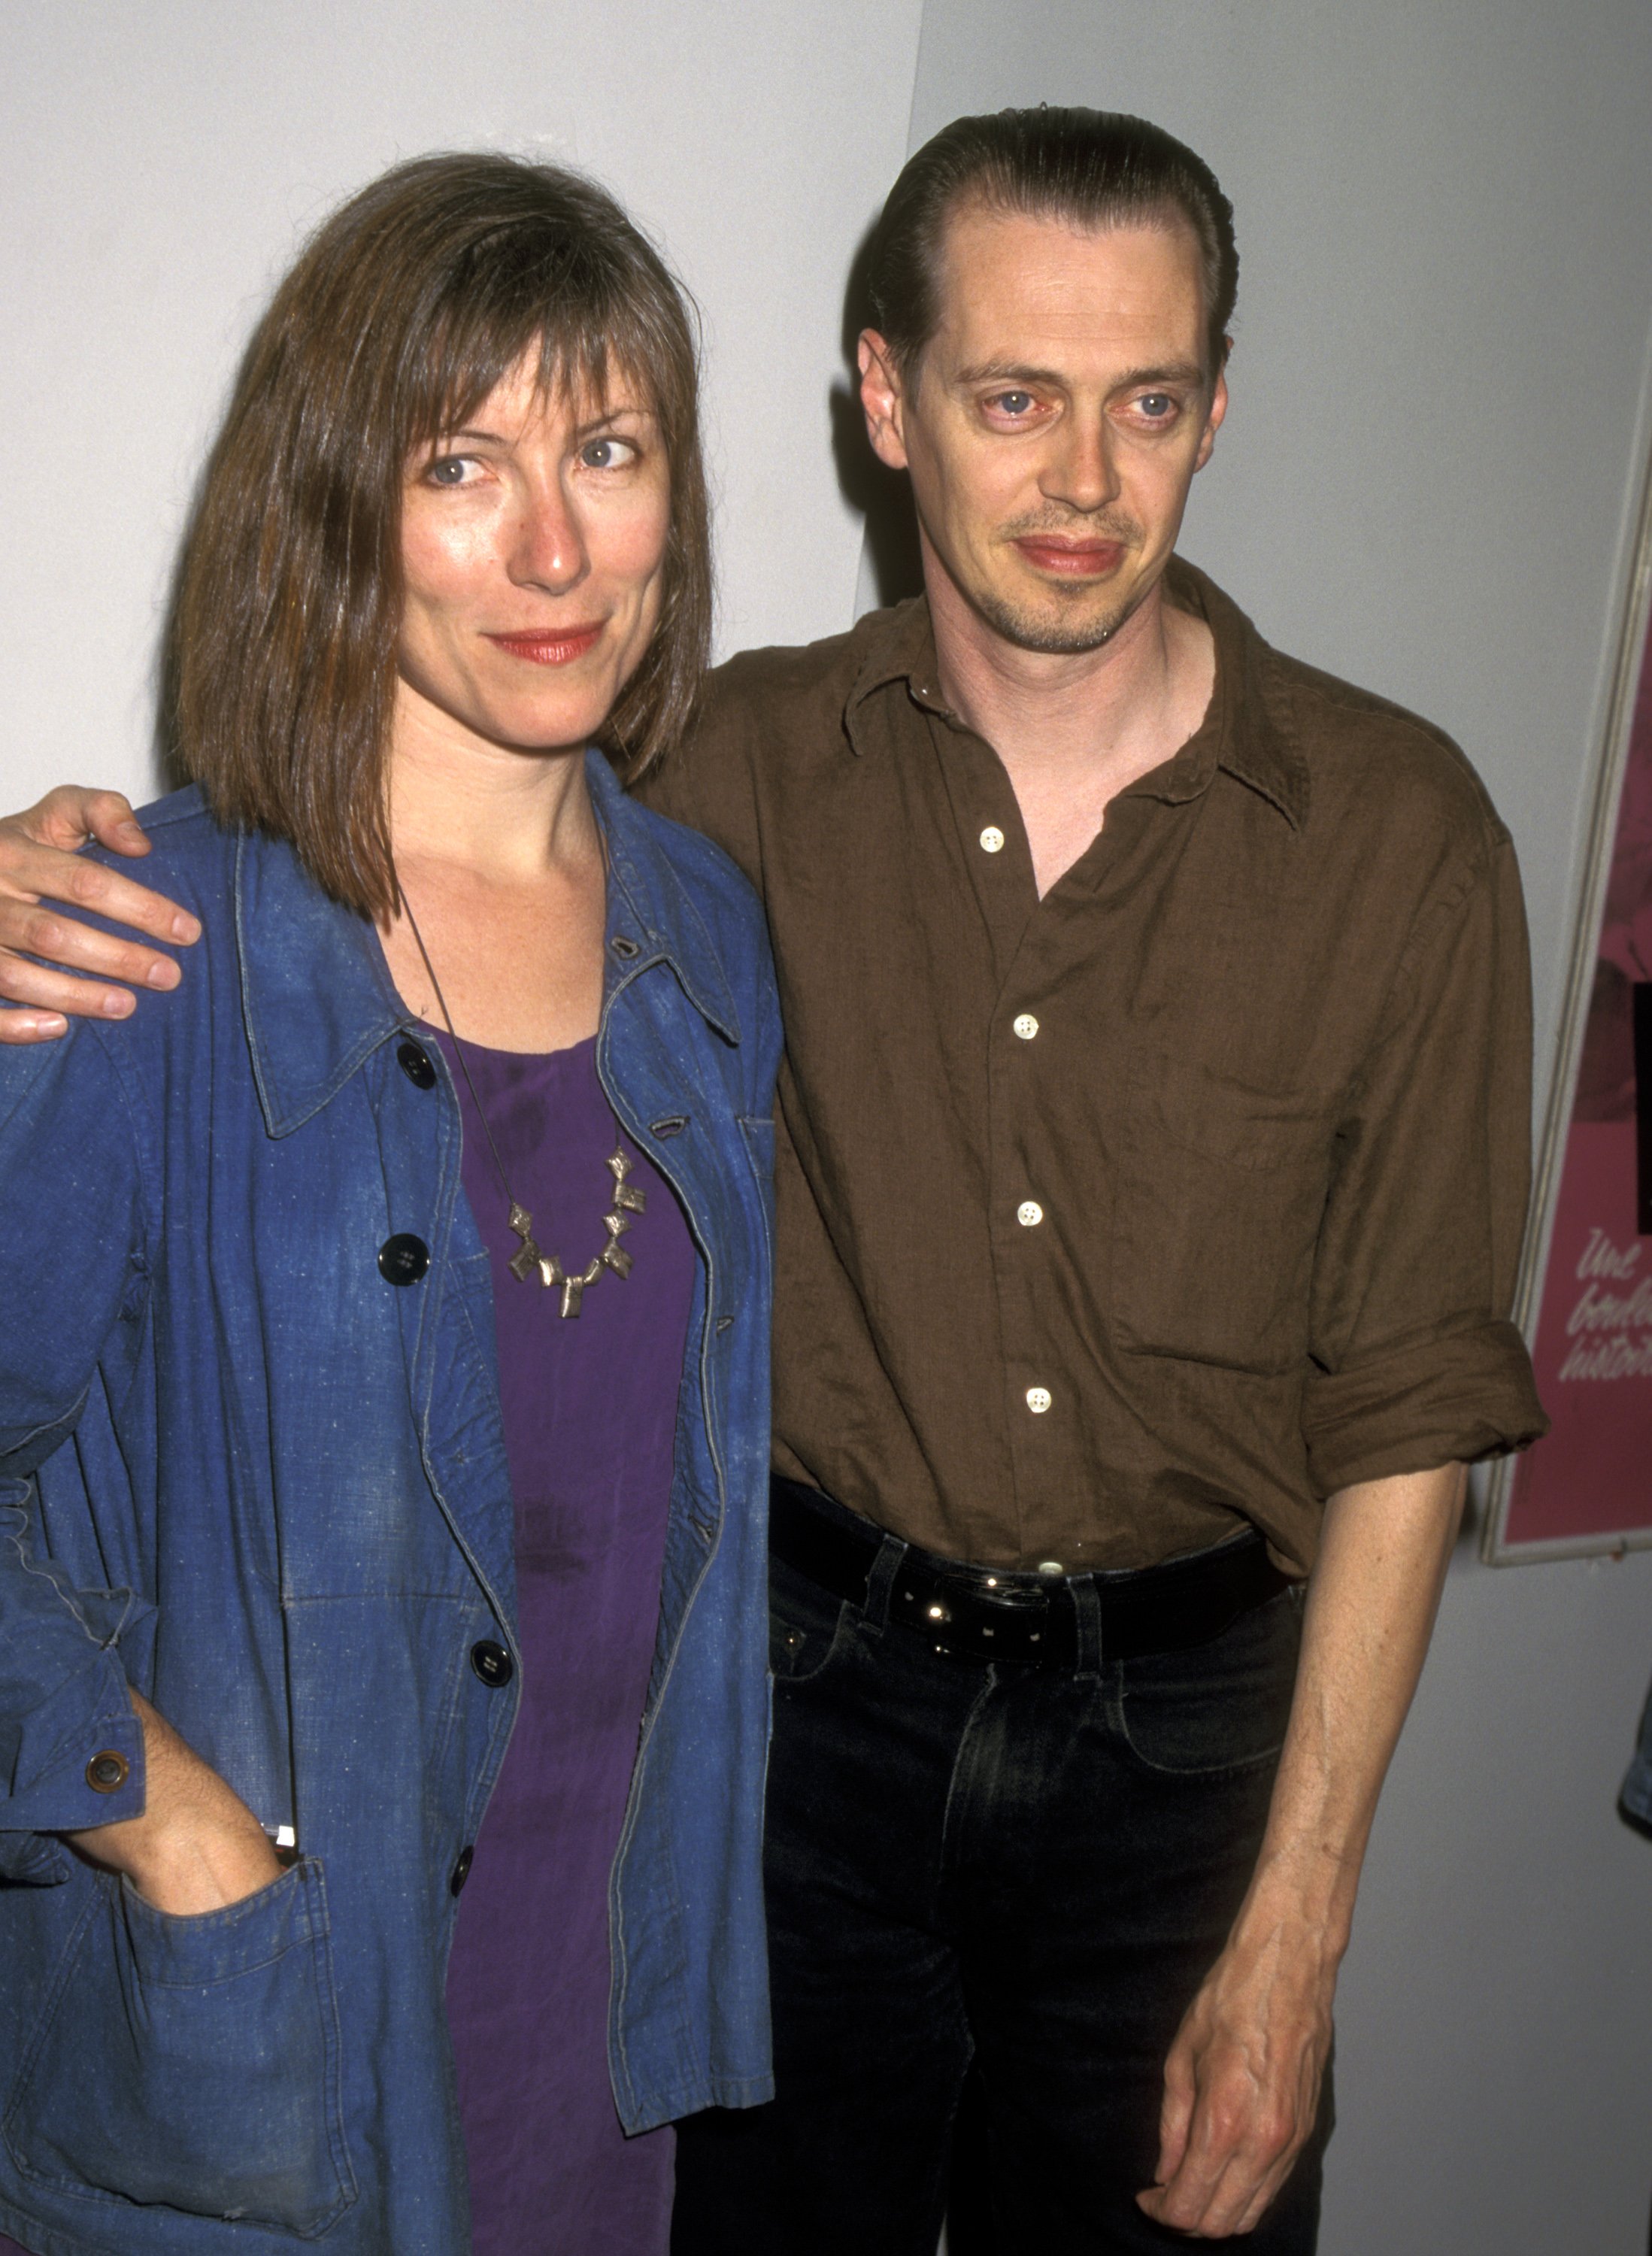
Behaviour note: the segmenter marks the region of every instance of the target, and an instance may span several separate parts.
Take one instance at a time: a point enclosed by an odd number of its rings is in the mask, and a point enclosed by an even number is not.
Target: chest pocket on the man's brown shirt
[[[1113,1205],[1113,1320],[1140,1354],[1284,1372],[1307,1356],[1332,1114],[1146,1051]]]

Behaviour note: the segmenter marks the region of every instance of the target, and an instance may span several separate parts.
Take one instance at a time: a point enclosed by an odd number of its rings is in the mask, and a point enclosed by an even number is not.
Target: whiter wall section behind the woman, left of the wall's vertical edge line
[[[706,314],[722,650],[846,625],[826,402],[916,41],[919,0],[5,7],[0,805],[151,796],[156,625],[239,347],[305,228],[424,149],[621,194]]]

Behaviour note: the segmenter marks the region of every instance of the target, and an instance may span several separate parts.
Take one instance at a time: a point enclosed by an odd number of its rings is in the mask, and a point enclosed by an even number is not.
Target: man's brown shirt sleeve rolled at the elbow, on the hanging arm
[[[1526,914],[1496,828],[1422,907],[1341,1123],[1302,1405],[1320,1496],[1548,1430],[1510,1322],[1530,1042]]]

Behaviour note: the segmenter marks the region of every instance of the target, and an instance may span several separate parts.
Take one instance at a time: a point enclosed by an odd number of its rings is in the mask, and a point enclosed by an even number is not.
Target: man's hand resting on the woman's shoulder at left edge
[[[169,945],[187,948],[201,936],[196,918],[174,900],[84,862],[74,848],[88,839],[113,853],[149,853],[149,839],[120,792],[63,785],[27,814],[0,821],[0,999],[23,1006],[0,1008],[0,1042],[56,1040],[68,1033],[70,1017],[126,1017],[135,1008],[131,988],[174,988],[181,977],[160,950],[93,932],[77,918],[56,916],[45,902],[95,909]],[[47,957],[97,979],[72,979],[29,957]],[[106,986],[111,979],[131,986]]]

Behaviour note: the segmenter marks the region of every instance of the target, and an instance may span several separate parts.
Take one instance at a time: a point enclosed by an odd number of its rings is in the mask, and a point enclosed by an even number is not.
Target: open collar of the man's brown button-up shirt
[[[1239,605],[1194,564],[1171,557],[1165,587],[1171,600],[1203,618],[1216,638],[1216,686],[1198,729],[1162,767],[1133,783],[1126,796],[1198,799],[1221,767],[1259,792],[1293,830],[1300,830],[1309,808],[1309,769],[1273,652]],[[934,627],[923,596],[873,614],[860,632],[867,645],[864,659],[844,708],[855,751],[864,749],[864,731],[855,729],[858,708],[891,684],[903,684],[925,713],[955,720],[941,697]]]

